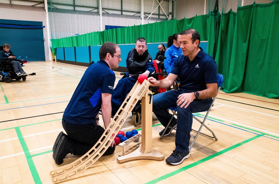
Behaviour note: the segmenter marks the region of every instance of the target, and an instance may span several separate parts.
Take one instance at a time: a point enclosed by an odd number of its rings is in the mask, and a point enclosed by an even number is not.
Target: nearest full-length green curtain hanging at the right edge
[[[238,7],[223,91],[279,98],[279,1]]]

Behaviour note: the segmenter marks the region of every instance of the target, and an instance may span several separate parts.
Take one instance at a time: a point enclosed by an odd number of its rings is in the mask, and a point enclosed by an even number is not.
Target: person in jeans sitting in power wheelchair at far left
[[[8,61],[16,58],[13,52],[10,50],[10,48],[11,46],[9,44],[4,44],[3,46],[4,50],[0,51],[0,61]],[[28,76],[28,74],[25,73],[24,70],[22,69],[19,61],[12,60],[11,64],[14,67],[14,73],[16,73],[18,77]]]

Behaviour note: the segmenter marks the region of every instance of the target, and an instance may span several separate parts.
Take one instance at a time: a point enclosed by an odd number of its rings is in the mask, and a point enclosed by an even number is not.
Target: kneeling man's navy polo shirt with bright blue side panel
[[[63,119],[72,124],[95,123],[102,105],[102,93],[112,94],[115,74],[106,61],[91,64],[84,72],[66,107]]]

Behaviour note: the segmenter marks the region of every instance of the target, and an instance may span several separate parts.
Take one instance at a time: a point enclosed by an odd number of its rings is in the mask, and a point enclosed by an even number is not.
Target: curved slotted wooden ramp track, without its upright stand
[[[105,153],[136,103],[149,91],[149,85],[150,83],[147,80],[144,80],[142,84],[136,82],[100,140],[78,160],[50,172],[53,183],[60,183],[76,176],[93,165]]]

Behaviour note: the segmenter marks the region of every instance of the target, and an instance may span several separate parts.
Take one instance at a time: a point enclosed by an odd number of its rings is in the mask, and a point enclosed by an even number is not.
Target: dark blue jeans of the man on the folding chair
[[[168,112],[168,108],[177,108],[175,150],[187,152],[189,151],[190,132],[193,123],[192,113],[206,111],[210,107],[213,99],[195,99],[187,108],[181,108],[177,105],[176,101],[178,100],[177,97],[182,93],[184,92],[179,90],[171,90],[154,95],[153,112],[158,120],[161,122],[161,124],[166,127],[172,116]]]

